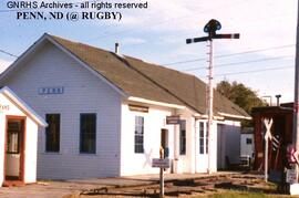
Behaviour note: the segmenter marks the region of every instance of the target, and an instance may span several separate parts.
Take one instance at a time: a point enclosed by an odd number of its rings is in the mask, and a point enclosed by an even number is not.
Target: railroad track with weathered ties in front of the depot
[[[260,176],[234,174],[199,178],[172,179],[165,183],[165,196],[192,197],[219,192],[225,189],[237,189],[262,194],[276,194],[276,186],[266,184]],[[82,191],[80,198],[96,197],[158,197],[158,184],[130,187],[95,188]]]

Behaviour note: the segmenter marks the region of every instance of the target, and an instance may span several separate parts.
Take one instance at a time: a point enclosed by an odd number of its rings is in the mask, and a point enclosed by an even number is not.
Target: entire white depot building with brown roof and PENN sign
[[[0,76],[44,117],[38,177],[70,179],[158,173],[162,145],[171,173],[213,171],[239,160],[240,121],[249,115],[215,92],[212,149],[206,84],[194,75],[118,53],[42,35]],[[178,115],[179,124],[166,124]]]

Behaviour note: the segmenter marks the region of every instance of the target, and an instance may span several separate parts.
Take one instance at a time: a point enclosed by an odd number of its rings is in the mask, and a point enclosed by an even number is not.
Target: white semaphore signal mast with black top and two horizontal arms
[[[213,40],[214,39],[239,39],[239,33],[227,33],[227,34],[217,34],[216,31],[221,29],[221,24],[219,21],[212,19],[204,28],[204,32],[208,33],[207,37],[202,38],[194,38],[187,39],[186,43],[196,43],[196,42],[209,42],[209,65],[208,65],[208,105],[207,105],[207,114],[208,114],[208,125],[207,125],[207,133],[208,133],[208,174],[212,174],[212,142],[213,139]],[[216,139],[217,140],[217,139]],[[214,156],[216,157],[216,156]],[[196,159],[195,159],[196,160]],[[196,168],[196,167],[195,167]]]

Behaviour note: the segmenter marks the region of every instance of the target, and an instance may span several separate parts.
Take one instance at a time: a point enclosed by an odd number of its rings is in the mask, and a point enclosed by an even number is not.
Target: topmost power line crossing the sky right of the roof
[[[258,50],[248,50],[248,51],[230,53],[230,54],[215,55],[214,59],[228,58],[228,56],[235,56],[235,55],[243,55],[243,54],[264,52],[264,51],[270,51],[270,50],[280,50],[280,49],[286,49],[286,48],[291,48],[291,46],[295,46],[295,44],[286,44],[286,45],[278,45],[278,46],[271,46],[271,48],[265,48],[265,49],[258,49]],[[190,59],[190,60],[185,60],[185,61],[164,63],[162,65],[175,65],[175,64],[184,64],[184,63],[206,61],[206,60],[207,59],[204,59],[204,58],[202,58],[202,59]]]

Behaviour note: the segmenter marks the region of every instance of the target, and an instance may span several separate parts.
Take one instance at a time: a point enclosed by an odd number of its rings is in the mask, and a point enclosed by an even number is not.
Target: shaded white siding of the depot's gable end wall
[[[86,52],[87,53],[87,52]],[[70,179],[120,175],[121,96],[58,48],[45,44],[4,83],[43,117],[61,114],[60,153],[45,153],[39,134],[38,178]],[[63,94],[39,95],[63,86]],[[96,113],[96,154],[79,152],[80,113]]]

